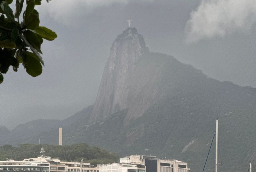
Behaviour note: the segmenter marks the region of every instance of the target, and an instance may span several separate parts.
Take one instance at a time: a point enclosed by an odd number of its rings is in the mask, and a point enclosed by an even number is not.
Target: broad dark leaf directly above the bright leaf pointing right
[[[34,30],[38,28],[39,23],[40,20],[37,10],[33,10],[29,15],[25,15],[25,28]]]

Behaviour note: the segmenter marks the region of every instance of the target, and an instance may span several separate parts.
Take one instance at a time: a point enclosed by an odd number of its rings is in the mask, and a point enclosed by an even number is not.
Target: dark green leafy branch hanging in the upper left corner
[[[17,71],[20,63],[33,77],[42,73],[44,61],[40,55],[41,44],[43,39],[52,41],[57,35],[39,26],[39,14],[34,8],[35,5],[41,5],[41,1],[26,0],[26,9],[20,22],[24,0],[15,1],[14,13],[9,6],[13,0],[0,0],[0,84],[3,82],[2,74],[6,74],[10,66]]]

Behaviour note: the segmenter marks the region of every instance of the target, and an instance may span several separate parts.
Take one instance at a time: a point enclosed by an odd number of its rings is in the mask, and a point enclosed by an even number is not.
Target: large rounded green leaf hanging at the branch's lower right
[[[26,64],[24,67],[26,68],[26,72],[33,77],[42,74],[42,65],[34,53],[26,51]]]

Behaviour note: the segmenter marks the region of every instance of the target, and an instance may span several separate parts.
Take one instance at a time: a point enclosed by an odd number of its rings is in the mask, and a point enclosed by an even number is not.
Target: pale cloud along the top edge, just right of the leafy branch
[[[42,3],[40,15],[53,17],[65,25],[74,25],[81,16],[85,16],[98,7],[110,6],[113,3],[127,4],[131,0],[56,0]],[[141,0],[152,2],[153,0]]]

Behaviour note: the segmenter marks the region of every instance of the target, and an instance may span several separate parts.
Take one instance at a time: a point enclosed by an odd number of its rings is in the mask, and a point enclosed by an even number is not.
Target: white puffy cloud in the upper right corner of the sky
[[[223,37],[235,31],[247,31],[255,22],[255,0],[202,0],[187,21],[186,41],[196,42],[215,36]]]

